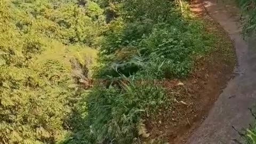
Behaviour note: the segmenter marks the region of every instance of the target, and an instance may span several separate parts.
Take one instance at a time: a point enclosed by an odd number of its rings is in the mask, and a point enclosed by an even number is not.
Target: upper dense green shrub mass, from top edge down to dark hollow
[[[209,35],[201,31],[202,23],[181,13],[176,5],[170,1],[124,1],[123,14],[110,22],[103,39],[100,58],[104,65],[99,75],[138,72],[163,78],[190,74],[193,57],[208,50]]]

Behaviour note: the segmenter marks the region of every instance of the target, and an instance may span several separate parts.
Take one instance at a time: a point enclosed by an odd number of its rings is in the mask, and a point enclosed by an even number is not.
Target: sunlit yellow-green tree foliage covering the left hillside
[[[75,95],[69,49],[97,41],[104,23],[94,5],[0,1],[0,143],[54,143],[65,132]]]

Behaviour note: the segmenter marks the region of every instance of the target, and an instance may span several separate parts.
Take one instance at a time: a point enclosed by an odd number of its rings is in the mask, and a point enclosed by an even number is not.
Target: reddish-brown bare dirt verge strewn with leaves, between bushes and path
[[[157,116],[147,118],[150,138],[163,138],[170,144],[185,143],[206,118],[222,89],[233,77],[236,65],[233,42],[226,31],[204,11],[199,1],[191,4],[191,10],[204,19],[209,33],[218,36],[214,50],[205,57],[197,58],[193,75],[186,79],[164,80],[171,97],[171,109],[158,111]]]

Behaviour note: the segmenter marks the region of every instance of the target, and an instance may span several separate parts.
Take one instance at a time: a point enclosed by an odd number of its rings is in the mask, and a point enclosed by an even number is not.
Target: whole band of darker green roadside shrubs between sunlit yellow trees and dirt
[[[159,107],[170,108],[173,100],[150,79],[188,76],[195,58],[211,50],[214,42],[185,3],[100,4],[111,18],[94,75],[105,81],[83,94],[71,124],[73,133],[60,143],[130,144],[149,137],[143,118]]]

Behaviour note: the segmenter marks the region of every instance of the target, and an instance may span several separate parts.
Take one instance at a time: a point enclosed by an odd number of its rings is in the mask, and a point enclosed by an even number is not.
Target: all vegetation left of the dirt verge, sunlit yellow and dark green
[[[188,76],[215,41],[180,2],[0,1],[0,143],[148,138],[143,118],[172,106],[153,79]]]

